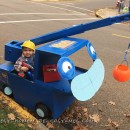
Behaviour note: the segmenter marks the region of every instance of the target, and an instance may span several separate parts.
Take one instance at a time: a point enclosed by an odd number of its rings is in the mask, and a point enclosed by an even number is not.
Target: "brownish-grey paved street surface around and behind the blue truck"
[[[116,0],[59,3],[0,0],[0,56],[4,55],[4,44],[11,40],[24,41],[74,24],[96,20],[93,14],[95,9],[111,7],[115,3]],[[105,80],[100,91],[91,100],[79,102],[80,106],[88,108],[90,115],[98,114],[102,118],[99,123],[86,123],[89,129],[114,129],[108,125],[109,118],[119,124],[120,130],[130,128],[124,116],[130,112],[130,82],[118,83],[112,78],[112,69],[123,60],[124,50],[130,41],[129,31],[128,25],[116,24],[76,36],[86,38],[93,43],[106,69]],[[86,58],[85,52],[84,49],[72,58],[76,65],[89,68],[92,61],[88,56],[88,59]],[[109,101],[115,102],[116,105],[109,105]],[[93,103],[97,105],[92,105]],[[69,125],[65,127],[69,129]]]

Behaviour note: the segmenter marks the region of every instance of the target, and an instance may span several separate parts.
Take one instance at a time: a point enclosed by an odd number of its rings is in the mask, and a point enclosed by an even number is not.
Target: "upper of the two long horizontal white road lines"
[[[44,15],[85,15],[77,13],[0,13],[0,15],[33,15],[33,14],[44,14]]]

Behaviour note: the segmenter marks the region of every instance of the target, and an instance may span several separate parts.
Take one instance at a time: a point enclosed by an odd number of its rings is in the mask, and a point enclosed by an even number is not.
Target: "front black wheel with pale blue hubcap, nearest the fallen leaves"
[[[50,110],[44,104],[38,104],[36,106],[35,112],[36,112],[38,118],[41,118],[41,119],[45,119],[45,118],[50,118],[51,117]]]

